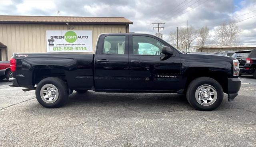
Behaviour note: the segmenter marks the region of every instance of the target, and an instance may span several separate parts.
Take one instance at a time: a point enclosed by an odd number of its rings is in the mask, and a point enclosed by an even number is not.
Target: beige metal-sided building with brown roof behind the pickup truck
[[[47,30],[91,30],[94,52],[100,33],[128,33],[129,24],[123,17],[0,16],[0,61],[12,53],[46,53]]]

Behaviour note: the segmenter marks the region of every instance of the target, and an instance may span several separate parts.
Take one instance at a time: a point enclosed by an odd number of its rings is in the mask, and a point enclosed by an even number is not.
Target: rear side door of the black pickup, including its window
[[[127,89],[129,87],[128,35],[101,35],[96,52],[95,88]]]

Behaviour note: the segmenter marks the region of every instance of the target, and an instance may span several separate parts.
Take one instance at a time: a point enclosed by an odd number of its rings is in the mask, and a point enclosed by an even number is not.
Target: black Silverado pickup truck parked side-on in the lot
[[[62,106],[73,90],[94,90],[186,94],[195,109],[214,110],[241,86],[235,58],[181,53],[148,34],[100,34],[95,54],[14,53],[10,63],[10,86],[35,89],[47,108]]]

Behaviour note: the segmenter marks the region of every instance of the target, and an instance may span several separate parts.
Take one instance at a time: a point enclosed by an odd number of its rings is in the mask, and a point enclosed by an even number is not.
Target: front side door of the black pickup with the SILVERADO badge
[[[162,54],[169,46],[151,35],[129,36],[130,86],[135,90],[179,90],[180,57]]]

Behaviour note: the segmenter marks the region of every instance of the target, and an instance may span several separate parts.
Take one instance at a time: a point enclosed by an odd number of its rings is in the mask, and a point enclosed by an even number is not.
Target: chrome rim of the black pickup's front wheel
[[[217,91],[211,85],[202,85],[196,89],[196,101],[203,106],[210,106],[217,100]]]

